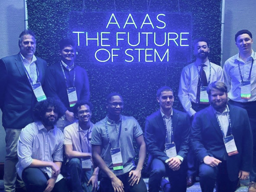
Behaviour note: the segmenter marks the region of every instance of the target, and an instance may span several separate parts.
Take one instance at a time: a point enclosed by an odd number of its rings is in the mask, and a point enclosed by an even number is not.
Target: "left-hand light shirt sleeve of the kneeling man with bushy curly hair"
[[[32,159],[32,144],[33,144],[33,133],[31,130],[32,125],[27,125],[24,129],[21,130],[21,134],[18,140],[17,145],[17,155],[18,159],[21,163],[21,166],[23,168],[28,167],[31,165],[33,159]]]

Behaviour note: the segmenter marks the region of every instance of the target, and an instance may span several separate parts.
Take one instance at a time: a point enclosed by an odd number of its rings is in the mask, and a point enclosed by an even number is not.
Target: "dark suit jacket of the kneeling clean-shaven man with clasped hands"
[[[173,135],[176,145],[177,155],[184,159],[188,152],[188,137],[190,133],[189,117],[186,113],[173,109]],[[165,150],[166,127],[163,117],[158,110],[146,118],[145,123],[145,142],[149,159],[158,158],[163,162],[168,159]],[[150,164],[150,162],[149,162]]]

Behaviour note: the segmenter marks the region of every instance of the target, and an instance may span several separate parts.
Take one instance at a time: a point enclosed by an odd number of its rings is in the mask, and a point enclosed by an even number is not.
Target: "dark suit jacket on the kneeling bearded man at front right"
[[[253,162],[253,138],[249,117],[246,110],[228,105],[232,134],[239,154],[228,157],[221,134],[221,128],[214,114],[212,106],[195,114],[191,128],[191,144],[199,161],[204,157],[226,160],[228,176],[231,181],[238,178],[239,170],[251,171]],[[230,135],[228,130],[227,135]]]

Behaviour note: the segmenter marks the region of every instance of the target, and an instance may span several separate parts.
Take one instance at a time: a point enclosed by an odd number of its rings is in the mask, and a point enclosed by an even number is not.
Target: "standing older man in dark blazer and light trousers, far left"
[[[6,132],[6,157],[4,162],[4,191],[15,191],[17,140],[21,129],[34,121],[32,108],[37,98],[32,89],[35,84],[44,85],[47,63],[35,57],[36,40],[31,30],[19,36],[20,52],[0,59],[0,109]],[[35,87],[34,87],[35,88]],[[41,94],[42,95],[42,94]],[[18,181],[16,187],[23,187]]]

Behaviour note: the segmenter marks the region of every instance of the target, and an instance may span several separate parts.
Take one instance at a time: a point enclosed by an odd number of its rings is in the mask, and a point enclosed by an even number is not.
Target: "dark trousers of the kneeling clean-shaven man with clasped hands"
[[[159,192],[162,178],[168,175],[170,188],[165,192],[186,192],[186,162],[183,162],[178,171],[173,171],[160,159],[153,159],[151,162],[151,173],[149,176],[149,192]]]

